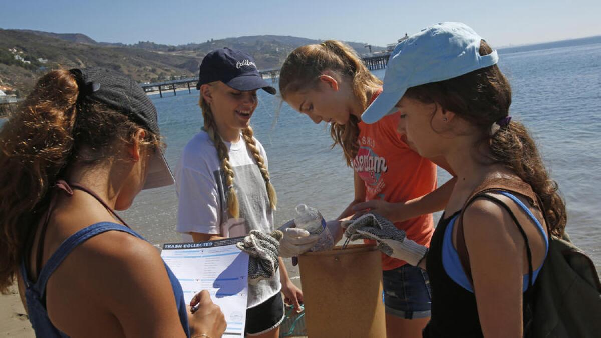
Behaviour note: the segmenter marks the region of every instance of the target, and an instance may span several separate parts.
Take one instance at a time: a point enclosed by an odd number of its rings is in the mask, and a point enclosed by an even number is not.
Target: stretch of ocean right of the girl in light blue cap
[[[501,54],[511,115],[531,131],[567,205],[567,232],[601,267],[601,43]]]

